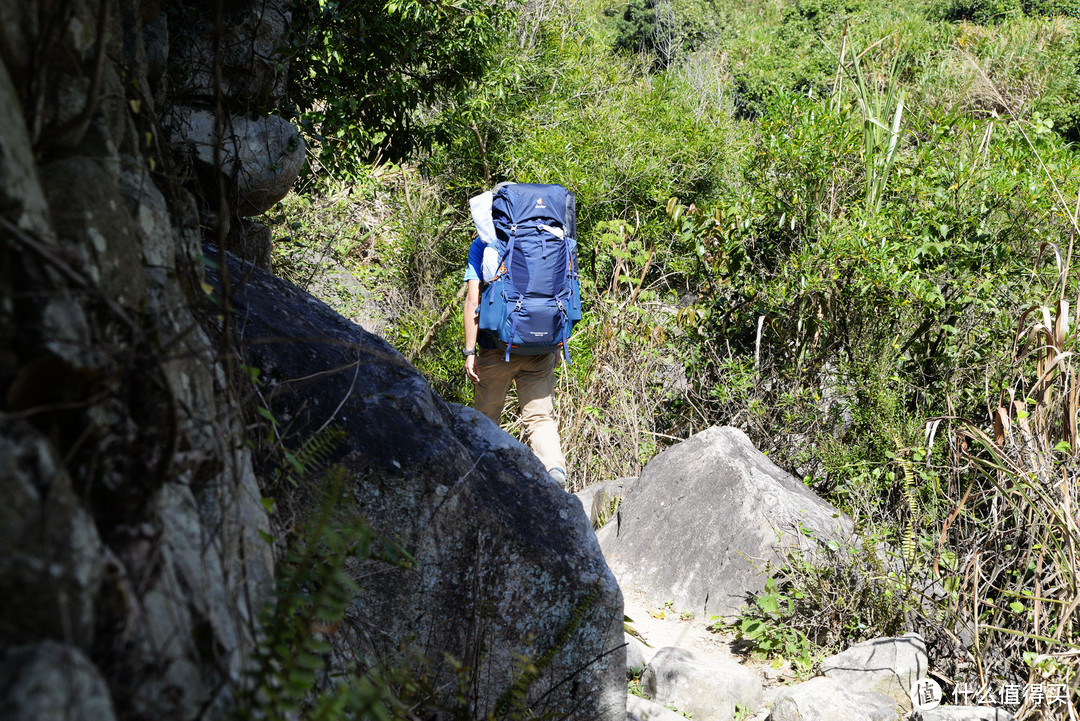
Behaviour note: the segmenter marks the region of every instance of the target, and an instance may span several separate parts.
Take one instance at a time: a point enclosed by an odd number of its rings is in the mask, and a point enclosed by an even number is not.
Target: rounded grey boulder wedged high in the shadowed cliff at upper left
[[[216,195],[214,155],[215,117],[210,110],[178,108],[170,121],[172,141],[189,149],[200,187]],[[221,171],[230,187],[229,201],[238,215],[252,216],[273,207],[288,193],[303,166],[303,138],[276,115],[225,119],[220,144]]]

